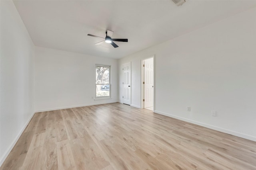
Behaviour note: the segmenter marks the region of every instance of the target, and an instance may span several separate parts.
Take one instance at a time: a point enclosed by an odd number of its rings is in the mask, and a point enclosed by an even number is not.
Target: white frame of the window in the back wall
[[[104,83],[104,84],[97,84],[97,79],[96,79],[96,75],[97,75],[97,72],[96,72],[96,67],[99,66],[99,67],[108,67],[108,85],[109,85],[109,96],[98,96],[97,97],[97,85],[105,85],[107,83]],[[111,65],[105,65],[105,64],[95,64],[95,99],[94,100],[104,100],[104,99],[111,99]]]

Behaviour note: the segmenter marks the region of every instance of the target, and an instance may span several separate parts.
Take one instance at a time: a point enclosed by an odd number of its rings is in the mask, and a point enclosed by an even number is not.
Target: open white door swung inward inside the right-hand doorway
[[[144,108],[153,107],[153,58],[144,60]]]

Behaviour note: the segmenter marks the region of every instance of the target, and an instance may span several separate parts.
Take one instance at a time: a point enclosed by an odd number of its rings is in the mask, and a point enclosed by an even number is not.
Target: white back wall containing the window
[[[94,101],[95,64],[111,65],[112,99]],[[36,47],[35,110],[117,102],[117,60]]]

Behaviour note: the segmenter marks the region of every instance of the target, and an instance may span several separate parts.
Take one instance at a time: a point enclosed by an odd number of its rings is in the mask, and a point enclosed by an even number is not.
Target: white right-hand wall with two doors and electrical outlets
[[[255,47],[253,8],[120,59],[119,100],[122,64],[131,61],[131,102],[141,106],[140,62],[155,55],[156,113],[256,141]]]

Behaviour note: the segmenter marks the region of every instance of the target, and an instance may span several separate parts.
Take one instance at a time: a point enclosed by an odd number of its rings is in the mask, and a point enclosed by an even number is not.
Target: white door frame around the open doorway
[[[144,68],[143,68],[143,61],[146,59],[151,59],[153,58],[153,112],[155,111],[155,55],[152,55],[150,57],[145,57],[140,60],[140,89],[141,89],[141,94],[140,94],[140,108],[144,109]]]

